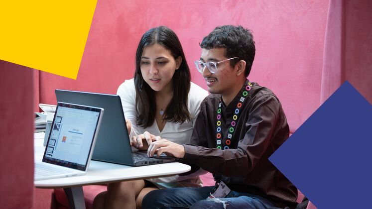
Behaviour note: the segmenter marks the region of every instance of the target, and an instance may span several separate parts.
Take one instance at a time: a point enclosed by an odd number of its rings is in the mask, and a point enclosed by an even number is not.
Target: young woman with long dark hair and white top
[[[147,149],[155,136],[188,143],[200,103],[208,93],[191,82],[177,35],[165,26],[145,32],[137,47],[135,64],[134,79],[126,80],[117,93],[128,119],[131,144]],[[196,173],[112,183],[107,192],[95,198],[94,208],[141,208],[142,198],[152,190],[200,186],[202,182]]]

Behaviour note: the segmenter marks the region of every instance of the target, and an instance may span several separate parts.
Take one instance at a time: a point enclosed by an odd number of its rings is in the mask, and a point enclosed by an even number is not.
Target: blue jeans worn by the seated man
[[[231,191],[226,198],[207,199],[211,187],[170,188],[149,192],[142,201],[143,209],[267,209],[275,207],[257,195]]]

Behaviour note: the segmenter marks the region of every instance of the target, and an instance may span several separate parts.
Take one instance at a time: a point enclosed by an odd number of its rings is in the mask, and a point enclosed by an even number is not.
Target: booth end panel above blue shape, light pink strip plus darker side
[[[348,80],[372,103],[372,2],[331,0],[321,102]]]

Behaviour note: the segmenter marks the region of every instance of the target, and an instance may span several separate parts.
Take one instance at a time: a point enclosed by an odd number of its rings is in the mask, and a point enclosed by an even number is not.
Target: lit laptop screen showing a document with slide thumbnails
[[[101,108],[58,103],[43,162],[85,171]]]

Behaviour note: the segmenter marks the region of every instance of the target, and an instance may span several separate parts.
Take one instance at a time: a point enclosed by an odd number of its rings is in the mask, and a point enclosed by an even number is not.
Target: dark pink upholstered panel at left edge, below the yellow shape
[[[0,208],[31,208],[33,70],[0,60]]]

